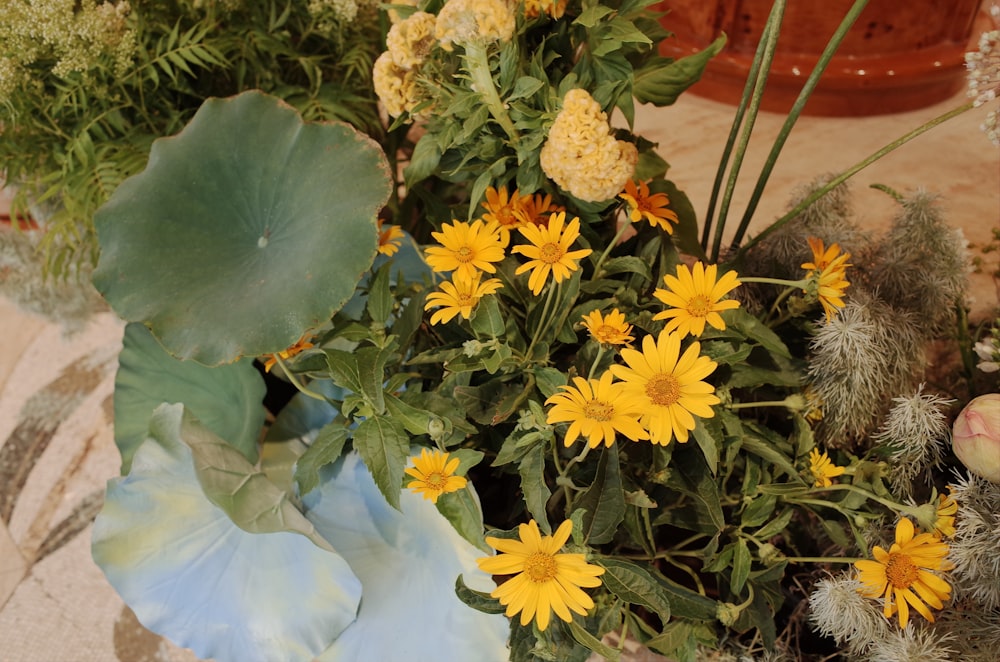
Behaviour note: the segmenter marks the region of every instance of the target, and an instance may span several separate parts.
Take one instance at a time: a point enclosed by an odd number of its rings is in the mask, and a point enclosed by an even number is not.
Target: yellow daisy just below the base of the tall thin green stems
[[[666,275],[663,282],[667,288],[657,289],[653,296],[670,306],[662,313],[653,316],[654,320],[669,319],[667,331],[677,331],[681,337],[687,335],[700,336],[708,322],[719,331],[726,328],[726,323],[719,315],[724,310],[739,308],[740,302],[735,299],[725,299],[733,289],[739,287],[739,278],[735,271],[727,271],[716,280],[717,265],[706,267],[701,262],[695,262],[694,269],[688,269],[685,264],[677,265],[677,275]]]

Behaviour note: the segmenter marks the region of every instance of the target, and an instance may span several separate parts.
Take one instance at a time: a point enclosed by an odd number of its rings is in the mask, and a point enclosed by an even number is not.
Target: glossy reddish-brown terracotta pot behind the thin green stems
[[[735,103],[772,0],[666,0],[661,21],[674,38],[661,52],[683,57],[726,33],[725,50],[691,92]],[[766,110],[791,108],[852,0],[790,0],[763,98]],[[965,85],[964,54],[974,29],[989,29],[981,0],[873,0],[827,67],[805,112],[876,115],[928,106]],[[978,35],[978,32],[976,32]]]

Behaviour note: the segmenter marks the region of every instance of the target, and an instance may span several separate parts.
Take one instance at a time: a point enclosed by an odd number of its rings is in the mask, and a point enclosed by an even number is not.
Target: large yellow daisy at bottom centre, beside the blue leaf
[[[569,623],[570,611],[587,615],[594,601],[580,587],[601,585],[604,568],[587,563],[583,554],[560,553],[573,530],[570,520],[563,522],[552,536],[543,536],[531,520],[518,526],[520,540],[486,537],[486,543],[500,554],[476,559],[479,569],[493,575],[514,575],[491,596],[507,607],[506,615],[521,614],[521,625],[532,619],[545,631],[552,612]]]

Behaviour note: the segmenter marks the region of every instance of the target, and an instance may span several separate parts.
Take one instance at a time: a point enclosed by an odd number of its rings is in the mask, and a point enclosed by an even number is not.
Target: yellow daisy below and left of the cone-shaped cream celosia
[[[528,287],[532,294],[537,295],[542,291],[549,273],[552,274],[552,280],[561,282],[580,268],[579,260],[593,253],[589,248],[569,250],[580,236],[580,219],[574,218],[563,229],[565,219],[566,212],[559,212],[552,214],[547,227],[524,225],[517,229],[532,245],[513,248],[513,252],[530,258],[529,262],[522,264],[514,273],[531,271]]]

